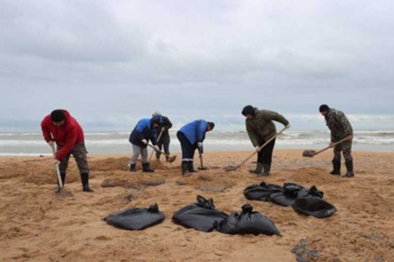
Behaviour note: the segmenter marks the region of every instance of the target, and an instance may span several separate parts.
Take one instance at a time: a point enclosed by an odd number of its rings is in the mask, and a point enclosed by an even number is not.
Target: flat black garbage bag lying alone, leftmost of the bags
[[[149,208],[132,208],[110,214],[104,221],[120,229],[142,230],[161,223],[165,216],[157,204]]]

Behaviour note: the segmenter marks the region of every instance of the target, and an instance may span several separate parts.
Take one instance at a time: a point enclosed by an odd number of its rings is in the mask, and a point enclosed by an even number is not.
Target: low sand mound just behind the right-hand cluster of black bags
[[[291,181],[303,184],[317,184],[320,185],[322,183],[340,183],[340,179],[338,176],[333,176],[328,174],[327,170],[324,168],[318,167],[302,167],[298,168],[295,171],[292,171],[294,174],[291,176]]]

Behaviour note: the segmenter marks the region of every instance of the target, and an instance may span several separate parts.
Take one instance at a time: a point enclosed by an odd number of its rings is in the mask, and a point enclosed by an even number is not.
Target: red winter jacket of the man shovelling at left
[[[84,143],[84,135],[81,126],[75,120],[75,118],[70,115],[70,113],[64,109],[62,110],[66,114],[64,126],[55,128],[55,126],[52,124],[51,115],[47,115],[41,121],[42,135],[44,136],[45,140],[47,142],[54,140],[60,148],[56,153],[56,159],[59,161],[61,161],[64,156],[70,153],[77,143]]]

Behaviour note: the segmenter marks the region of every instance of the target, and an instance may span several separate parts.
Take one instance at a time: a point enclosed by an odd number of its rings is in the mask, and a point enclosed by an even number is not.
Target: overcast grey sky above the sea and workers
[[[155,110],[225,129],[244,123],[246,104],[324,128],[322,103],[360,127],[394,128],[393,10],[391,0],[2,0],[0,131],[38,129],[56,108],[92,129]]]

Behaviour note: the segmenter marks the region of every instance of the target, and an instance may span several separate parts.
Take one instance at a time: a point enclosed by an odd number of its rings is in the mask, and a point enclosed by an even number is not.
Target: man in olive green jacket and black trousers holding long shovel
[[[268,176],[271,170],[275,139],[272,139],[263,149],[260,150],[260,147],[276,135],[276,127],[273,121],[280,122],[286,128],[290,128],[289,121],[277,112],[259,110],[251,105],[243,108],[242,115],[246,117],[246,131],[248,132],[249,138],[259,152],[256,170],[250,170],[250,172],[256,173],[257,176]],[[262,172],[263,169],[264,171]]]

